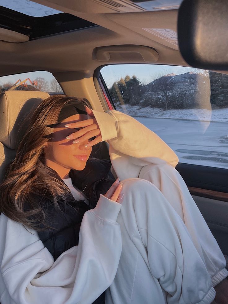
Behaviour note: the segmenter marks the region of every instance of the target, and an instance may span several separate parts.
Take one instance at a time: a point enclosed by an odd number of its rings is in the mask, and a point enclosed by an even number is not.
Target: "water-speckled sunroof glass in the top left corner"
[[[62,13],[29,0],[1,0],[1,6],[33,17],[44,17]]]

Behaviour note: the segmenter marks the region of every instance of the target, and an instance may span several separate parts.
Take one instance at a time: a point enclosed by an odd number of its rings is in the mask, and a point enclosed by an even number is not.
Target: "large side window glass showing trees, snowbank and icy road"
[[[228,75],[149,64],[101,69],[116,110],[154,131],[179,162],[228,168]]]

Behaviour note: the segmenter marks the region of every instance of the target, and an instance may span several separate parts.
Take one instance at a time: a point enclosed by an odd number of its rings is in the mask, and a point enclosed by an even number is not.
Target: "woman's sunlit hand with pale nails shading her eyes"
[[[84,127],[79,131],[68,135],[66,138],[77,139],[74,140],[73,143],[80,143],[85,141],[86,139],[90,139],[96,136],[94,140],[90,141],[90,143],[87,143],[85,145],[85,147],[91,147],[96,145],[97,143],[100,143],[102,141],[102,137],[101,137],[101,131],[99,129],[99,126],[97,124],[96,118],[94,117],[92,110],[85,106],[85,111],[89,116],[93,118],[65,125],[65,127],[68,127],[69,129]]]

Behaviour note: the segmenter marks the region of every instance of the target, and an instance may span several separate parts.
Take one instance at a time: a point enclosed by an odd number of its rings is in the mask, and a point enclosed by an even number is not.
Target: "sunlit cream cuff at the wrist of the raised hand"
[[[118,136],[117,131],[117,121],[111,114],[111,110],[108,112],[99,112],[92,110],[94,117],[98,123],[99,129],[101,131],[102,141],[107,139],[112,139]],[[90,117],[87,115],[88,118]]]

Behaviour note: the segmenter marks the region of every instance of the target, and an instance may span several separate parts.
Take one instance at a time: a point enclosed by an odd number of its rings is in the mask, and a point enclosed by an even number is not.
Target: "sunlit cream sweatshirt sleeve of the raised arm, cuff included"
[[[109,143],[110,160],[116,173],[114,176],[121,180],[138,178],[145,165],[168,163],[175,167],[178,164],[175,152],[133,117],[115,110],[92,112],[99,125],[102,141]]]

